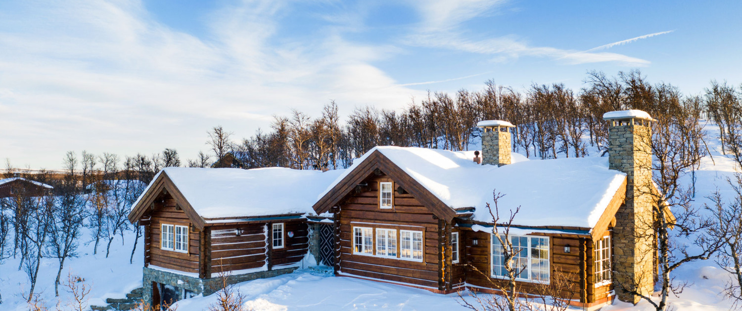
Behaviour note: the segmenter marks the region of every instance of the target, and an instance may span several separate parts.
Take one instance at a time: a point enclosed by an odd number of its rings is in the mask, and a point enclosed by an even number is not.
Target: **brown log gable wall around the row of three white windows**
[[[378,182],[392,181],[385,175],[367,178],[368,184],[361,193],[351,193],[341,201],[339,223],[340,250],[338,268],[341,272],[367,278],[402,282],[439,289],[439,221],[426,207],[410,194],[393,195],[393,208],[378,207]],[[394,184],[393,189],[396,190]],[[410,227],[413,226],[413,227]],[[423,231],[423,262],[399,258],[381,258],[370,255],[353,255],[352,227]],[[373,233],[375,245],[375,230]],[[397,231],[399,238],[399,231]],[[399,244],[399,243],[398,243]],[[375,247],[373,247],[375,252]]]

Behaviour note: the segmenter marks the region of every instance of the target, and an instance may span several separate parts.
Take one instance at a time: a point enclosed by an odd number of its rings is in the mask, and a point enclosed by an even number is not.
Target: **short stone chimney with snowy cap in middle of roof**
[[[510,164],[510,127],[515,127],[508,121],[488,120],[479,121],[477,127],[482,127],[482,164],[493,164],[502,167]]]

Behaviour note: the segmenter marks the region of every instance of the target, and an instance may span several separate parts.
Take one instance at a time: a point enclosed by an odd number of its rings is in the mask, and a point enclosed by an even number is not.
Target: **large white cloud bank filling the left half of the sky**
[[[83,149],[194,157],[217,124],[239,138],[292,107],[318,115],[335,99],[349,113],[421,94],[371,64],[394,47],[332,31],[275,40],[282,2],[225,7],[207,19],[209,38],[158,23],[134,0],[23,5],[0,16],[0,158],[19,166],[56,168]]]

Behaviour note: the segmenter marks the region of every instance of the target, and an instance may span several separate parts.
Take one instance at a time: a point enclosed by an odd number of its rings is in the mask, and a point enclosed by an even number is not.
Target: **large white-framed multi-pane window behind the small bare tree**
[[[500,241],[492,235],[492,276],[507,277],[505,270],[505,253]],[[510,235],[513,244],[513,260],[510,267],[516,272],[516,278],[527,281],[549,282],[549,238],[531,235]]]

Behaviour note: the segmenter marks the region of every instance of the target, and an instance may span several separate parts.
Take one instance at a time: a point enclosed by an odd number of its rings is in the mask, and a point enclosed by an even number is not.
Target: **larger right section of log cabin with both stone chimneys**
[[[604,118],[608,157],[528,161],[511,153],[507,121],[479,122],[481,158],[478,151],[375,147],[313,206],[334,215],[335,275],[497,293],[507,276],[498,234],[515,247],[512,264],[526,295],[559,274],[573,290],[558,295],[574,306],[594,310],[617,295],[637,303],[624,289],[651,293],[656,273],[651,235],[638,233],[652,217],[645,190],[654,189],[653,119],[639,110]],[[495,196],[499,218],[490,205]],[[669,210],[664,216],[672,220]]]

